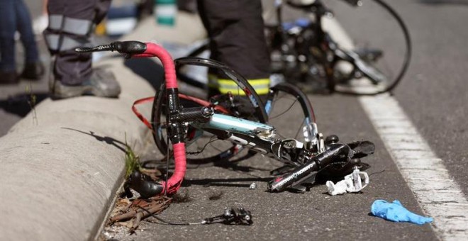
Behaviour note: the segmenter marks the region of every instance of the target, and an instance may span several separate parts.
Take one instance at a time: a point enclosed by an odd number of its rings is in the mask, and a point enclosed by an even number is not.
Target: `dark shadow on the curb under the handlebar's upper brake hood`
[[[146,79],[155,89],[160,89],[162,82],[164,82],[164,69],[153,60],[148,58],[135,58],[126,60],[124,65],[135,74]]]

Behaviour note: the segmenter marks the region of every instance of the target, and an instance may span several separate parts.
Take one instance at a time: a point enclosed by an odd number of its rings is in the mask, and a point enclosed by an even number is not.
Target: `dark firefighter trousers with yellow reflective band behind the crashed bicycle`
[[[201,20],[210,38],[211,58],[245,77],[257,94],[268,94],[269,52],[264,37],[260,0],[199,0]],[[238,86],[213,69],[208,74],[208,93],[238,93]],[[242,92],[242,91],[241,91]]]

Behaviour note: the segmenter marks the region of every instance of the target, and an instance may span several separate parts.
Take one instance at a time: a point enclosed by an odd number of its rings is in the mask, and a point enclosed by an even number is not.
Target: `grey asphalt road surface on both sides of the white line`
[[[367,2],[369,0],[364,0],[364,6]],[[442,159],[466,200],[468,87],[464,83],[464,73],[468,66],[468,1],[394,0],[389,4],[401,14],[413,39],[411,66],[394,91],[394,98],[433,152]],[[398,49],[398,44],[394,43],[397,29],[369,30],[387,26],[387,19],[379,18],[378,11],[356,13],[336,1],[330,1],[330,6],[352,38],[365,36],[369,43],[396,45]],[[389,56],[392,60],[399,57]],[[28,112],[27,101],[21,101],[30,96],[26,92],[28,84],[1,86],[0,135]],[[45,80],[30,84],[38,95],[47,91]],[[241,206],[252,211],[254,225],[178,226],[143,222],[136,235],[111,230],[108,234],[118,240],[438,240],[438,233],[431,225],[391,223],[368,215],[376,199],[399,199],[409,210],[422,211],[359,99],[338,94],[310,95],[309,98],[316,111],[319,130],[325,135],[337,134],[344,142],[371,140],[376,144],[376,153],[364,159],[372,166],[367,170],[372,176],[371,184],[361,194],[328,196],[323,185],[314,186],[305,194],[269,194],[265,192],[269,170],[279,163],[257,155],[240,162],[240,167],[245,167],[241,170],[189,169],[181,191],[186,190],[191,201],[173,203],[160,215],[173,222],[196,222],[219,215],[224,208]],[[22,111],[14,106],[18,103]],[[249,189],[252,182],[257,184],[257,189]],[[213,196],[220,198],[211,200]]]

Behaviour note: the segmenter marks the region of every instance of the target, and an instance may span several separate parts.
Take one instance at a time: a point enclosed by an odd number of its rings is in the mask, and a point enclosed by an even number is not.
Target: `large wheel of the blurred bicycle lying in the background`
[[[345,31],[336,30],[334,20],[325,21],[324,28],[329,28],[332,38],[347,52],[345,59],[357,59],[358,67],[364,70],[349,71],[352,68],[347,61],[337,62],[335,76],[344,76],[346,81],[337,82],[335,90],[356,95],[394,90],[408,69],[412,50],[411,37],[399,14],[383,0],[364,0],[361,6],[344,1],[327,1],[327,5],[335,13],[338,28]],[[359,69],[357,65],[354,70]],[[372,76],[384,80],[376,82],[369,78]]]

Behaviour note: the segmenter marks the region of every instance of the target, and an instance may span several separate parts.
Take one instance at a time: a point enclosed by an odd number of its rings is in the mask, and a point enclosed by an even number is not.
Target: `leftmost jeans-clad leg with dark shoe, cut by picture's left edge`
[[[16,0],[0,0],[0,84],[18,82],[15,62],[14,1]]]

